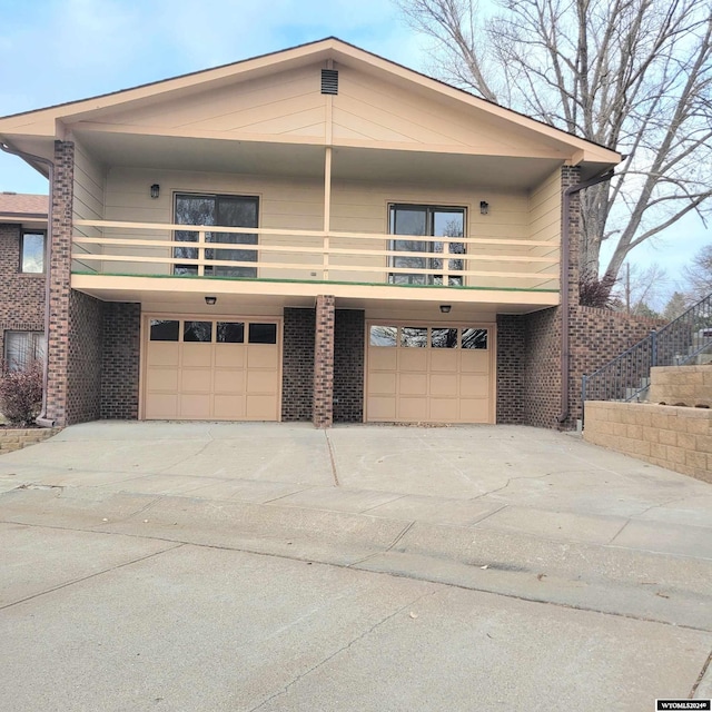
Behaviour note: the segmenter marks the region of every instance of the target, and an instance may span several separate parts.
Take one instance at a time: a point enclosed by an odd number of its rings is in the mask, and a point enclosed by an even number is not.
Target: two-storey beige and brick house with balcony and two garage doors
[[[0,140],[53,165],[57,425],[572,427],[647,330],[578,307],[577,191],[619,154],[334,38]]]

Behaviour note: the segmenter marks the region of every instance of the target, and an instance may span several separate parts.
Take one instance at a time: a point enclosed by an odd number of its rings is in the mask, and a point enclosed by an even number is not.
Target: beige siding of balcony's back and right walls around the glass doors
[[[532,196],[524,191],[503,191],[466,188],[428,188],[387,182],[357,182],[335,180],[332,191],[332,219],[334,231],[373,233],[374,239],[330,237],[330,248],[337,250],[384,250],[388,240],[388,205],[390,202],[425,204],[464,207],[467,210],[466,237],[497,240],[555,239],[558,233],[560,201],[555,191],[557,176],[552,176]],[[151,184],[161,187],[160,198],[149,196]],[[319,179],[294,179],[267,176],[206,174],[148,169],[111,169],[107,178],[106,219],[170,224],[174,220],[175,192],[217,192],[253,195],[260,200],[259,226],[271,229],[315,230],[323,229],[324,194]],[[479,201],[490,204],[488,215],[481,215]],[[107,236],[121,238],[170,239],[170,231],[121,230],[107,228]],[[263,235],[259,245],[265,247],[288,246],[319,250],[319,236]],[[538,250],[538,251],[535,251]],[[551,248],[532,248],[526,245],[468,245],[467,254],[482,256],[472,259],[467,269],[536,274],[552,271],[545,264],[512,261],[505,257],[526,258],[546,256]],[[146,257],[170,257],[170,248],[161,247],[109,247],[105,254],[137,254]],[[502,257],[503,259],[500,259]],[[557,258],[556,255],[553,258]],[[259,251],[258,276],[269,279],[322,279],[323,257],[320,253]],[[278,267],[288,264],[287,268]],[[270,265],[275,265],[270,267]],[[300,268],[299,265],[304,265]],[[350,269],[359,266],[373,269]],[[346,269],[344,269],[346,268]],[[107,271],[115,274],[170,274],[167,265],[135,263],[109,263]],[[555,270],[554,270],[555,271]],[[384,255],[345,254],[332,255],[328,277],[337,281],[384,283],[387,279],[388,261]],[[550,280],[551,281],[551,280]],[[468,277],[466,284],[481,287],[527,288],[541,286],[536,279],[514,277]],[[553,288],[553,287],[548,287]]]

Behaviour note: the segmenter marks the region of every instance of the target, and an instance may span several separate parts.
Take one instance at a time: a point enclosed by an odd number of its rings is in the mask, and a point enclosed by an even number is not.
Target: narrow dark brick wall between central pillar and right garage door
[[[365,313],[337,309],[334,336],[334,422],[363,423]]]

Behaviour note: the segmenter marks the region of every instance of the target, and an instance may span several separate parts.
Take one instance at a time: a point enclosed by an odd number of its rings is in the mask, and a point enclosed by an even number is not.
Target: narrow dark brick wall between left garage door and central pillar
[[[284,312],[281,419],[312,421],[314,403],[314,309]]]

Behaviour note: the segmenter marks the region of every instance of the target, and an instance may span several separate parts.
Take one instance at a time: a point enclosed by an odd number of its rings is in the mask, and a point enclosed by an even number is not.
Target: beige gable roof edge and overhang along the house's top
[[[591,160],[609,165],[620,161],[620,155],[616,151],[501,107],[335,37],[89,99],[0,118],[0,135],[53,137],[58,121],[60,127],[62,123],[71,126],[73,122],[92,121],[107,112],[129,111],[132,108],[138,109],[147,103],[169,98],[180,99],[197,90],[218,88],[235,81],[256,79],[277,71],[328,60],[356,67],[366,73],[385,77],[390,81],[406,82],[409,90],[429,97],[435,96],[438,100],[451,102],[472,112],[474,117],[482,117],[488,121],[508,122],[520,131],[531,132],[533,137],[540,136],[541,140],[553,140],[565,145],[568,150],[577,155],[580,161]]]

